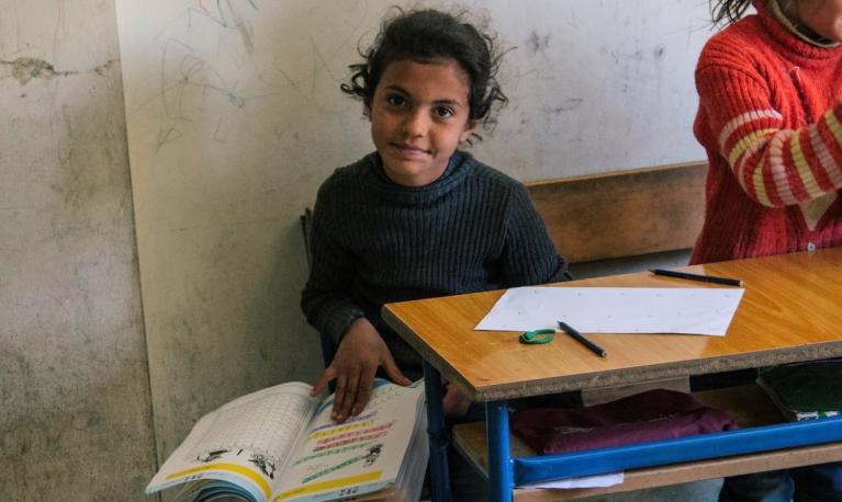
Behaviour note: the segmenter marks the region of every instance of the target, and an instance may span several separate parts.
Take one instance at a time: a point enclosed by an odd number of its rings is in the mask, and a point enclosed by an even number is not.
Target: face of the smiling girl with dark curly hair
[[[386,175],[404,186],[424,186],[475,123],[469,121],[469,80],[453,59],[390,62],[370,104],[371,138]]]

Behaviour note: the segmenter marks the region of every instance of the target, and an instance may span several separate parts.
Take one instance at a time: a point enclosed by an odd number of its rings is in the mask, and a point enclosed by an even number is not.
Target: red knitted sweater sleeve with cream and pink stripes
[[[842,101],[818,122],[786,129],[768,83],[738,64],[733,55],[703,56],[696,85],[719,153],[742,190],[763,206],[782,207],[842,187]]]

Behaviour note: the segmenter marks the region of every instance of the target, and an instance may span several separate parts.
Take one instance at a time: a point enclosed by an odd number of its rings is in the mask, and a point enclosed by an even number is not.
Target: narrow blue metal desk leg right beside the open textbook
[[[449,443],[441,402],[441,375],[424,363],[424,388],[427,396],[427,435],[429,436],[429,469],[434,502],[450,502],[450,475],[447,467]]]

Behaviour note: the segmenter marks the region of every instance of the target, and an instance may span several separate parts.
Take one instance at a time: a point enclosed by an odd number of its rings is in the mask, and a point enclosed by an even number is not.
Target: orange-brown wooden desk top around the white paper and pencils
[[[842,356],[842,249],[677,270],[743,281],[726,336],[588,334],[607,357],[570,336],[524,345],[517,332],[474,331],[502,289],[389,304],[383,318],[478,401]],[[648,272],[554,286],[721,287]]]

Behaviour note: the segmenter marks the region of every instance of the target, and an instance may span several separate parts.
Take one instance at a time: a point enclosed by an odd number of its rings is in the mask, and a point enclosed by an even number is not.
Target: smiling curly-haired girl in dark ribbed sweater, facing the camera
[[[362,100],[377,151],[319,189],[302,293],[307,321],[338,344],[313,392],[336,380],[339,422],[362,411],[380,367],[398,384],[420,376],[383,304],[568,278],[526,189],[457,149],[506,102],[492,39],[423,10],[388,21],[363,56],[341,89]],[[446,412],[468,404],[446,391]]]

